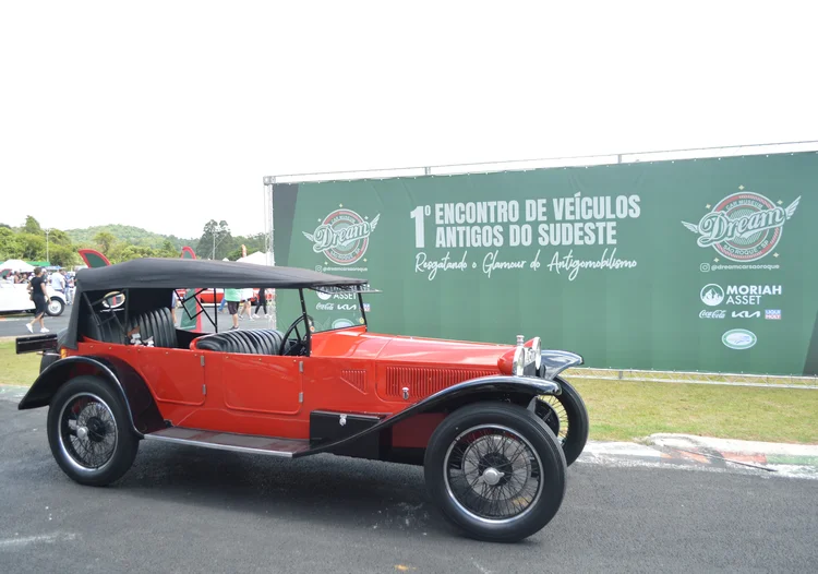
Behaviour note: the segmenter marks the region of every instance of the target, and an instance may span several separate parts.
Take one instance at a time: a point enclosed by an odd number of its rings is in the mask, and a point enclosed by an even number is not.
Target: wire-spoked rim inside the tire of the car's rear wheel
[[[117,421],[110,407],[98,396],[81,393],[72,396],[59,417],[62,451],[77,466],[97,470],[105,467],[117,451]]]

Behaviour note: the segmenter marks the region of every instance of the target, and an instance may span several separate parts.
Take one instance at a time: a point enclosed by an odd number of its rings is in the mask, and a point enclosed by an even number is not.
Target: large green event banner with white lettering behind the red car
[[[368,278],[376,332],[816,374],[817,188],[815,153],[278,184],[275,253]]]

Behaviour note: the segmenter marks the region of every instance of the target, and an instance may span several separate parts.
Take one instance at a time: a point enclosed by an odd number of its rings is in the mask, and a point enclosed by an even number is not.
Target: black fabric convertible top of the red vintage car
[[[363,285],[366,279],[352,279],[296,267],[273,267],[253,263],[210,261],[204,259],[134,259],[107,267],[81,270],[76,273],[84,291],[103,289],[212,287],[268,287],[301,289]]]

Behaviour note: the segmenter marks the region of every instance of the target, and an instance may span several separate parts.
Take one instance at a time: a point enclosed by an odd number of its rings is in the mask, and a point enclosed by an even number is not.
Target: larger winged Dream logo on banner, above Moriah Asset
[[[732,261],[756,261],[775,249],[799,201],[801,196],[782,207],[781,201],[774,204],[760,193],[741,191],[721,200],[698,225],[682,225],[699,234],[699,247],[712,247]]]

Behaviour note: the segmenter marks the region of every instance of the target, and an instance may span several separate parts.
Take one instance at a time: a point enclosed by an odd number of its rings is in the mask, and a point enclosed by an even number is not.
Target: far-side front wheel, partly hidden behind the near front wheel
[[[537,397],[534,412],[556,434],[565,453],[565,463],[570,466],[588,442],[588,409],[577,390],[565,379],[557,376],[554,381],[560,384],[562,393]]]

